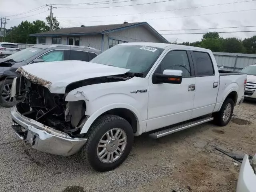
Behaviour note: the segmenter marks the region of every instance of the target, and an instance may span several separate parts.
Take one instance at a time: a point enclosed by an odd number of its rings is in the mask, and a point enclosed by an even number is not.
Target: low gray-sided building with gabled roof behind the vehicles
[[[62,28],[48,32],[30,34],[36,36],[36,43],[90,46],[107,50],[112,46],[126,42],[168,43],[147,22],[81,26]]]

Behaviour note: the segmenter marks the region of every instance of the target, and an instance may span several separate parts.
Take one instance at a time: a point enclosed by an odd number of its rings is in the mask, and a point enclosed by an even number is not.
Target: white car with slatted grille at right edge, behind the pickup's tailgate
[[[240,72],[247,74],[247,84],[244,90],[244,97],[256,99],[256,64],[249,65],[246,68],[243,68]]]

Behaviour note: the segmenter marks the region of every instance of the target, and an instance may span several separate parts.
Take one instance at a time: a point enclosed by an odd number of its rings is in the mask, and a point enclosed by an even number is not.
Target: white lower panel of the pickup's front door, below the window
[[[147,132],[190,119],[195,94],[188,90],[191,84],[196,78],[184,78],[181,84],[150,82]]]

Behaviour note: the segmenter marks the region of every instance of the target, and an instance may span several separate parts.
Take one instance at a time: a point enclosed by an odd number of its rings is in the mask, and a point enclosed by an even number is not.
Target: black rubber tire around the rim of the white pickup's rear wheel
[[[231,105],[231,113],[229,118],[226,121],[224,121],[223,119],[224,110],[228,104]],[[226,98],[226,100],[223,102],[220,108],[220,111],[213,114],[214,124],[218,126],[226,126],[230,122],[230,119],[232,118],[233,111],[234,111],[234,101],[231,98]]]

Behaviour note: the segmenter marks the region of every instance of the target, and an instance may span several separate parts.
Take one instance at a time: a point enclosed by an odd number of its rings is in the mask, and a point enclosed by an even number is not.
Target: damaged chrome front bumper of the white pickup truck
[[[14,122],[12,128],[21,140],[32,148],[56,155],[70,156],[77,153],[86,143],[86,138],[72,138],[68,134],[43,125],[20,114],[14,106],[11,109]]]

